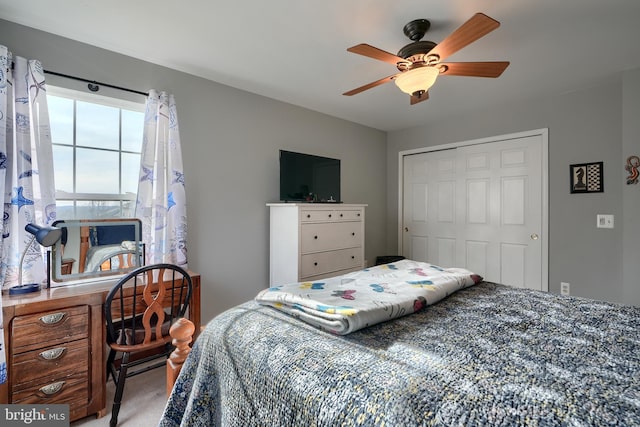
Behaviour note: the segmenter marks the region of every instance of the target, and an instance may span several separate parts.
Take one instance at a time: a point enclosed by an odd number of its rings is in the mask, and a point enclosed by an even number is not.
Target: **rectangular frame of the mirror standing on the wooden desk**
[[[78,250],[74,251],[73,256],[76,255],[78,258],[74,258],[74,263],[78,263],[78,265],[84,266],[86,263],[82,263],[80,259],[80,254],[82,253],[81,247],[83,244],[90,248],[90,240],[89,240],[89,228],[90,227],[116,227],[116,226],[134,226],[135,240],[133,240],[134,250],[132,250],[132,254],[134,256],[131,257],[132,264],[130,267],[125,268],[117,268],[113,270],[103,270],[103,271],[83,271],[83,272],[71,272],[70,274],[62,273],[62,264],[63,264],[63,244],[62,239],[60,239],[51,249],[51,286],[64,286],[64,282],[69,282],[72,280],[78,279],[89,279],[89,278],[98,278],[98,277],[109,277],[115,275],[125,274],[135,268],[141,267],[144,265],[144,244],[142,243],[142,223],[137,218],[118,218],[118,219],[71,219],[71,220],[57,220],[53,223],[54,227],[59,228],[67,228],[66,235],[78,236]],[[86,228],[85,228],[86,227]],[[70,230],[74,230],[73,233]],[[86,239],[86,242],[82,240]],[[88,246],[87,246],[88,245]],[[67,242],[67,246],[69,243]],[[95,246],[94,246],[95,247]],[[123,248],[124,249],[124,248]],[[122,252],[119,252],[122,253]],[[85,254],[86,255],[86,254]],[[117,254],[114,253],[113,256]],[[69,256],[67,253],[66,256]]]

